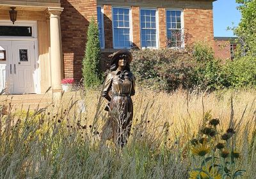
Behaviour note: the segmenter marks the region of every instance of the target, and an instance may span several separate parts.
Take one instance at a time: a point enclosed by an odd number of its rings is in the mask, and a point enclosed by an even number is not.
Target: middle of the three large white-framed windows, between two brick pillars
[[[156,10],[140,10],[141,47],[157,47]]]

